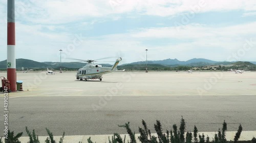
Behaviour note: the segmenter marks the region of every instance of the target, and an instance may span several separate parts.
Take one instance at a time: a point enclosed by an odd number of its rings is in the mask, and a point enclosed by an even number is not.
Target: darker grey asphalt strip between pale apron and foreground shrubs
[[[160,120],[166,130],[179,124],[183,116],[188,130],[196,125],[199,131],[217,131],[224,120],[229,131],[236,131],[240,123],[244,131],[256,130],[256,96],[114,96],[103,102],[104,98],[11,98],[10,129],[25,132],[28,126],[38,135],[47,135],[46,127],[54,135],[61,135],[63,131],[67,135],[112,134],[126,133],[117,125],[130,122],[133,131],[138,133],[141,119],[151,130],[156,120]],[[3,98],[0,102],[3,103]],[[3,123],[3,116],[0,122]],[[0,124],[1,129],[3,126]]]

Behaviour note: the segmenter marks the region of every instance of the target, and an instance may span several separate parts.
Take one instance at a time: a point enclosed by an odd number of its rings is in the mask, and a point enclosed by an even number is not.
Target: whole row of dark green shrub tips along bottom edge
[[[130,123],[125,123],[124,125],[118,125],[119,127],[123,127],[126,129],[127,134],[129,134],[130,139],[127,140],[127,142],[131,143],[137,143],[135,132],[133,132],[130,128]],[[138,140],[141,143],[209,143],[210,138],[205,136],[204,134],[200,135],[198,134],[198,129],[195,126],[193,133],[186,132],[186,124],[185,120],[182,118],[180,121],[180,127],[178,129],[177,125],[173,125],[173,129],[166,130],[166,133],[163,133],[162,125],[160,121],[156,121],[156,124],[154,124],[154,128],[156,131],[156,136],[152,135],[151,130],[147,128],[146,122],[142,120],[142,127],[139,127],[139,137]],[[45,140],[46,143],[56,143],[56,141],[53,139],[53,134],[50,132],[49,129],[47,129],[47,133],[49,137]],[[215,137],[212,138],[211,142],[213,143],[237,143],[238,139],[240,138],[241,132],[243,130],[241,124],[239,125],[239,129],[236,133],[236,136],[234,136],[234,141],[227,141],[226,139],[226,130],[227,130],[227,124],[224,121],[222,129],[219,129],[218,133],[215,134]],[[38,136],[35,133],[35,130],[31,133],[29,129],[26,127],[26,132],[29,136],[29,142],[28,143],[40,143],[38,140]],[[14,135],[14,132],[8,131],[8,139],[5,139],[5,143],[20,143],[18,138],[22,136],[22,132],[18,133],[17,135]],[[65,136],[65,132],[63,132],[62,137],[58,141],[59,143],[63,143],[63,138]],[[114,133],[112,138],[109,137],[109,143],[125,143],[125,139],[120,136],[118,133]],[[94,143],[91,140],[91,137],[87,140],[89,143]],[[252,138],[252,143],[256,143],[256,138]],[[0,143],[3,143],[2,138],[0,139]],[[81,143],[79,141],[79,143]]]

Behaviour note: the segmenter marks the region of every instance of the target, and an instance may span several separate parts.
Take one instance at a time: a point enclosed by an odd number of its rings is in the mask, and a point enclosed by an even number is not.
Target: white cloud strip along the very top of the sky
[[[184,12],[256,10],[256,3],[244,1],[154,1],[154,0],[56,0],[16,1],[16,15],[19,20],[34,23],[60,24],[105,17],[113,14],[136,13],[141,15],[174,16]],[[114,19],[115,20],[115,19]]]

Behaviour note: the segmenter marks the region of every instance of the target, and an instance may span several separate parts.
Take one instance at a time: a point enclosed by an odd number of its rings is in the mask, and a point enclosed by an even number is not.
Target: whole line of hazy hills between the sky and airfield
[[[256,62],[255,62],[256,63]],[[79,62],[62,62],[61,68],[62,69],[78,69],[86,65],[85,63]],[[111,67],[111,64],[99,64],[103,67]],[[186,67],[200,67],[200,66],[214,66],[214,65],[228,65],[234,67],[255,67],[251,62],[216,62],[207,59],[191,59],[188,61],[179,61],[177,59],[166,59],[160,61],[147,61],[148,70],[160,70],[160,69],[169,69],[172,67],[179,67],[179,66],[186,66]],[[27,59],[16,59],[16,68],[21,69],[24,68],[51,68],[51,69],[59,69],[60,62],[36,62]],[[145,61],[135,62],[131,64],[123,64],[119,65],[118,69],[131,69],[131,70],[144,70],[146,67]],[[0,69],[6,69],[6,60],[0,62]]]

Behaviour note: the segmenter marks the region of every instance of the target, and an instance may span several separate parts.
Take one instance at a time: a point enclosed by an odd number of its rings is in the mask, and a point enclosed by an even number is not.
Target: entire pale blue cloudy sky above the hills
[[[16,59],[256,61],[255,0],[15,0]],[[0,0],[0,61],[7,1]]]

